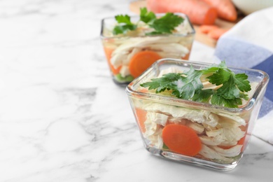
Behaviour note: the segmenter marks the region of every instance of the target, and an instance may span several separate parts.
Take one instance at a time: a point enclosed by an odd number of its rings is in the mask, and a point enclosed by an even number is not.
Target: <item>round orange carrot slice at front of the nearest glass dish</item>
[[[170,124],[162,130],[162,139],[171,151],[194,156],[202,149],[202,143],[193,129],[185,125]]]

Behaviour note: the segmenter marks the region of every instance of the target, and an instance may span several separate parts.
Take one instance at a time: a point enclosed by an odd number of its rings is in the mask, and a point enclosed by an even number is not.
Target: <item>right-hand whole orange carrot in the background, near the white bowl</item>
[[[237,20],[236,8],[231,0],[202,0],[216,8],[218,17],[233,22]]]

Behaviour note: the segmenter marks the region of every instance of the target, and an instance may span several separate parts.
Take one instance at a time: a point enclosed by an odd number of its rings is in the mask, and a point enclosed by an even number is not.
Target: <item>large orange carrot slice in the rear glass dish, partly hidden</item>
[[[130,60],[129,70],[134,78],[138,77],[143,73],[149,66],[151,66],[155,61],[161,59],[157,52],[153,51],[141,51],[137,52]]]

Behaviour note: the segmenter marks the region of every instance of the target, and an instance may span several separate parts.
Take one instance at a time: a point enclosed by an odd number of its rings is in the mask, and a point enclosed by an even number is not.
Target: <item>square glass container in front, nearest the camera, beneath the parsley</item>
[[[211,66],[181,59],[160,59],[127,85],[126,92],[144,146],[153,155],[170,160],[220,170],[234,169],[248,145],[269,76],[260,70],[228,67],[235,73],[246,73],[251,83],[248,101],[238,108],[193,102],[170,94],[156,94],[140,86],[151,78],[160,77],[164,70],[188,71],[191,65],[194,69]],[[168,125],[179,125],[179,128],[186,127],[187,130],[169,130],[171,127]],[[182,134],[186,141],[176,139],[176,132]],[[172,137],[165,137],[167,134]],[[198,143],[201,148],[196,147],[196,142],[201,142]],[[195,151],[187,152],[191,149]]]

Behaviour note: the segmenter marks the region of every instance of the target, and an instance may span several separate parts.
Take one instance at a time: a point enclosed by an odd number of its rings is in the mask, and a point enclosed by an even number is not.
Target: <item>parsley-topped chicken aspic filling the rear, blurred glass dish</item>
[[[104,52],[116,83],[130,83],[158,59],[188,59],[195,30],[186,15],[155,15],[141,9],[140,17],[118,15],[116,20],[122,23],[105,19],[102,28]]]

